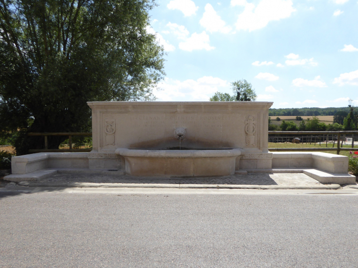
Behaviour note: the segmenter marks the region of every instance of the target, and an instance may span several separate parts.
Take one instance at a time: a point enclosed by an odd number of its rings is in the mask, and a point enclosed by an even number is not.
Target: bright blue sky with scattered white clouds
[[[272,108],[358,106],[357,0],[156,0],[165,55],[158,101],[233,95],[246,79]]]

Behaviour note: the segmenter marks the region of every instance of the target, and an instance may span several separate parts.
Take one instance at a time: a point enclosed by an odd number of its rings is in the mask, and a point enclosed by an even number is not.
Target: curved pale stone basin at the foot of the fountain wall
[[[225,176],[235,173],[235,163],[241,155],[241,150],[118,148],[115,153],[123,157],[128,175]]]

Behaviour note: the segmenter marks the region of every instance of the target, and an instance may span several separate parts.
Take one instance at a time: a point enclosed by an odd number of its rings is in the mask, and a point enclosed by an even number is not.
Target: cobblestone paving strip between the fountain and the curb
[[[146,183],[146,184],[226,184],[226,185],[319,185],[303,173],[249,173],[216,177],[135,177],[107,174],[58,173],[41,182]]]

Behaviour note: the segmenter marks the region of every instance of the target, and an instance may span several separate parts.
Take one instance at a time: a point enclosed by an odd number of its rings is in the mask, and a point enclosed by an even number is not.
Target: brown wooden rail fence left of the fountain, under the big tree
[[[44,133],[28,133],[28,136],[44,136],[45,137],[45,149],[30,149],[28,152],[90,152],[92,149],[73,149],[72,148],[72,136],[92,136],[92,132],[44,132]],[[70,149],[49,149],[48,148],[48,136],[68,136],[68,143]]]

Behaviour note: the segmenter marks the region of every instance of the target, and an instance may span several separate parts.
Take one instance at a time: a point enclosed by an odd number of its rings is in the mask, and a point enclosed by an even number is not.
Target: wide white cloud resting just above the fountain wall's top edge
[[[160,82],[161,90],[153,90],[153,94],[160,101],[195,100],[207,101],[217,91],[229,89],[230,84],[218,77],[204,76],[197,80],[187,79],[185,81],[166,78]]]

